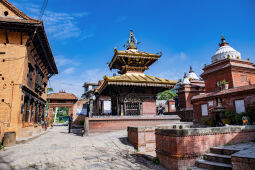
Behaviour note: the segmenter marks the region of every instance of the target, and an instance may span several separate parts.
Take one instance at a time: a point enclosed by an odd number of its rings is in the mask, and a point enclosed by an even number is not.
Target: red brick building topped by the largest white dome
[[[243,60],[223,36],[219,46],[212,64],[205,66],[201,74],[206,93],[192,97],[195,122],[202,117],[215,117],[217,110],[246,112],[247,106],[255,102],[254,64]]]

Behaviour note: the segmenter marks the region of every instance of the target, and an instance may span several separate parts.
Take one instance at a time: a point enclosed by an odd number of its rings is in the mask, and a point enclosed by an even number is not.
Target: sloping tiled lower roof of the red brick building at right
[[[216,91],[216,92],[205,93],[205,94],[194,96],[194,97],[192,97],[191,100],[195,101],[195,100],[200,100],[200,99],[209,98],[209,97],[216,97],[216,96],[222,96],[222,95],[229,95],[229,94],[237,93],[237,92],[244,92],[244,91],[248,91],[248,90],[255,90],[255,84],[230,88],[227,90],[221,90],[221,91]]]

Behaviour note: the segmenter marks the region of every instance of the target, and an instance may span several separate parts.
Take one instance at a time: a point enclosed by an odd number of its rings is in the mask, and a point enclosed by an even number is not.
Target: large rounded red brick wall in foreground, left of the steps
[[[156,153],[167,169],[187,169],[213,146],[255,138],[255,126],[156,129]]]

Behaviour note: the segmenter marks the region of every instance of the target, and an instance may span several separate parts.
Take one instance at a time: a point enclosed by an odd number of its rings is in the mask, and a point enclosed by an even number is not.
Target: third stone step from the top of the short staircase
[[[219,162],[211,162],[203,159],[197,160],[195,164],[198,168],[205,168],[210,170],[231,170],[231,164],[224,164]]]

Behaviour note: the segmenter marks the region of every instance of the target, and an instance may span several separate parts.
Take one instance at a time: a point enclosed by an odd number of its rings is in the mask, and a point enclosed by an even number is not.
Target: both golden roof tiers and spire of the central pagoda
[[[142,87],[163,87],[173,88],[176,81],[149,76],[143,72],[148,69],[155,61],[161,57],[161,52],[152,54],[137,50],[139,42],[135,39],[134,33],[130,31],[126,50],[119,51],[114,49],[114,56],[109,64],[110,69],[120,70],[120,75],[113,77],[104,77],[104,80],[99,83],[96,92],[99,94],[108,85],[119,86],[142,86]]]

